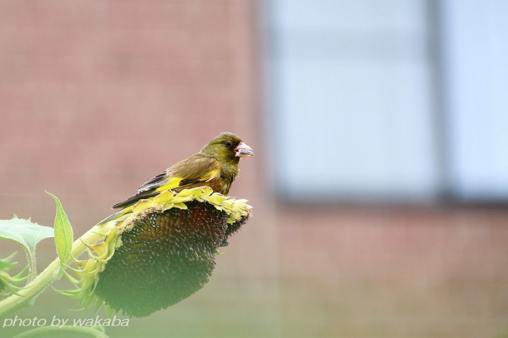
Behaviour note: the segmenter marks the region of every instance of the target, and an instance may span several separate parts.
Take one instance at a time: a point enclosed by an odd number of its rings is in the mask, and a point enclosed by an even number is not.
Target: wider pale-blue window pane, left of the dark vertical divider
[[[423,1],[276,1],[269,9],[278,190],[298,199],[437,191]]]

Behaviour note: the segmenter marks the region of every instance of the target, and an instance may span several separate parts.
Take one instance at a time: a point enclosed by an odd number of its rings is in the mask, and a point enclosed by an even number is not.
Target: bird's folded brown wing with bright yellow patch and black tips
[[[146,181],[139,187],[136,195],[114,205],[113,209],[131,206],[140,199],[153,197],[164,190],[185,187],[198,182],[208,182],[219,176],[219,161],[213,157],[194,155]]]

